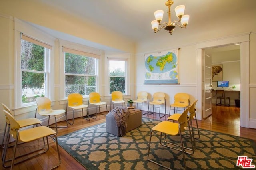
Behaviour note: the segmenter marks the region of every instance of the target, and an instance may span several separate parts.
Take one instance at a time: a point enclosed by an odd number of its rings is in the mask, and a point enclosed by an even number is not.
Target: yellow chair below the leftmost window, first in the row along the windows
[[[51,103],[52,103],[51,100],[48,99],[47,97],[36,98],[36,104],[37,104],[36,113],[38,112],[39,115],[48,116],[48,124],[47,124],[48,127],[50,127],[50,125],[49,125],[50,116],[54,116],[54,118],[55,118],[55,127],[54,128],[56,128],[56,134],[58,134],[58,127],[68,127],[67,114],[64,109],[53,110]],[[36,117],[36,113],[35,113],[35,117]],[[57,120],[58,120],[56,118],[57,116],[61,116],[58,119],[65,117],[67,126],[57,126]],[[50,127],[50,128],[53,128],[53,127]]]

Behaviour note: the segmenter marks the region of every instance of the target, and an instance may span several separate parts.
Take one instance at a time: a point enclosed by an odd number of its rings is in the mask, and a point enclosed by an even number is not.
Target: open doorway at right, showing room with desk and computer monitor
[[[236,114],[234,113],[234,108],[239,101],[240,105],[240,44],[234,45],[224,45],[220,47],[210,47],[204,49],[207,55],[211,57],[211,67],[212,67],[212,99],[211,99],[211,113],[212,121],[223,121],[225,123],[227,120],[219,119],[225,115],[225,117],[230,117],[232,125],[240,126],[240,108],[236,108]],[[207,57],[204,55],[204,57]],[[204,59],[205,61],[205,59]],[[206,63],[204,63],[206,64]],[[206,75],[204,75],[206,76]],[[205,79],[205,77],[204,77]],[[228,82],[228,87],[218,87],[218,83]],[[226,97],[229,97],[227,101],[230,106],[216,106],[216,90],[222,89],[225,91]],[[219,100],[220,101],[220,100]],[[219,102],[218,101],[218,102]],[[206,101],[207,102],[207,101]],[[239,113],[238,113],[239,112]],[[220,116],[222,115],[222,116]],[[204,117],[205,118],[205,117]]]

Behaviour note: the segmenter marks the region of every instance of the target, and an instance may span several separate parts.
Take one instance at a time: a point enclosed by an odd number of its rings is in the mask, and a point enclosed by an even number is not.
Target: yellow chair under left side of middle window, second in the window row
[[[72,93],[72,94],[68,95],[68,101],[67,101],[67,105],[66,105],[66,113],[68,113],[68,107],[73,109],[73,122],[70,123],[68,121],[68,123],[70,125],[74,124],[75,109],[82,109],[82,118],[90,121],[90,118],[88,116],[88,105],[84,105],[83,96],[81,94],[79,94],[79,93]],[[83,116],[84,108],[87,108],[88,119]]]

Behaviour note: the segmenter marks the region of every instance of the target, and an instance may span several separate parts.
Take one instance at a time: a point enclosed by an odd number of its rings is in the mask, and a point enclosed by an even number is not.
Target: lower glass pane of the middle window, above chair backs
[[[74,76],[66,75],[65,94],[66,97],[71,93],[80,93],[89,95],[90,92],[96,91],[95,76]]]

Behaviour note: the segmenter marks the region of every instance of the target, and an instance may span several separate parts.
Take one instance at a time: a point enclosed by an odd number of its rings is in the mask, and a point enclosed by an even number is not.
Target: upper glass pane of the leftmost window
[[[44,47],[21,40],[21,69],[44,71]]]

